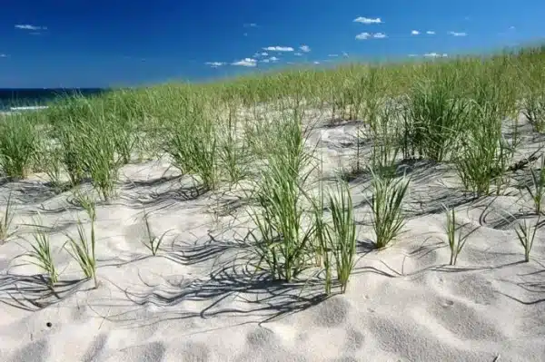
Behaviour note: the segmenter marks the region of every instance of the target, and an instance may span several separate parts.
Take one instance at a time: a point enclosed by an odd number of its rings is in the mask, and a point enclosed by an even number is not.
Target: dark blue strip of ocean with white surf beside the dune
[[[58,97],[81,94],[90,96],[106,92],[103,88],[0,88],[0,112],[24,111],[46,106]]]

